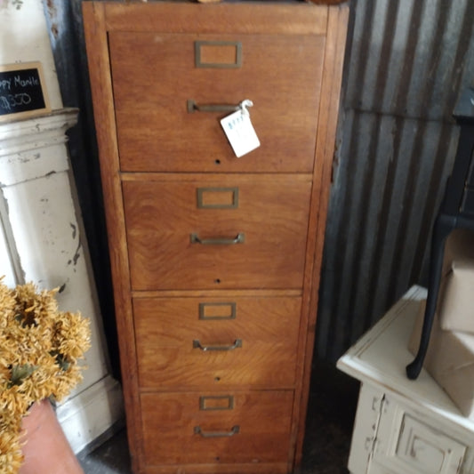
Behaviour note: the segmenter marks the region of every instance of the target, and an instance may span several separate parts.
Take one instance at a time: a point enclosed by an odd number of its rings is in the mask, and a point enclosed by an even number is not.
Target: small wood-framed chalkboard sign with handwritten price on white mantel
[[[40,62],[0,66],[0,122],[50,111]]]

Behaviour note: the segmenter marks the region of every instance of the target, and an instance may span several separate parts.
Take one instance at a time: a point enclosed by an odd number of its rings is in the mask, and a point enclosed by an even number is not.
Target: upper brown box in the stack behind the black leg
[[[474,333],[474,232],[455,230],[446,240],[438,296],[439,325]]]

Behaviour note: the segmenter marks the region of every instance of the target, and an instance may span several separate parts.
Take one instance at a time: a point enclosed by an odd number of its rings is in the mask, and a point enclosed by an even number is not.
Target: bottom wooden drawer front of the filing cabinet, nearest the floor
[[[292,391],[144,393],[146,463],[285,462]]]

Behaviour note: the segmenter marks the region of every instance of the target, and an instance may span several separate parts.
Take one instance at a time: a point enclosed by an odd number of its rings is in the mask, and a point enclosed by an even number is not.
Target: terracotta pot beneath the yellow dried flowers
[[[84,474],[48,400],[35,403],[21,427],[25,462],[20,474]]]

